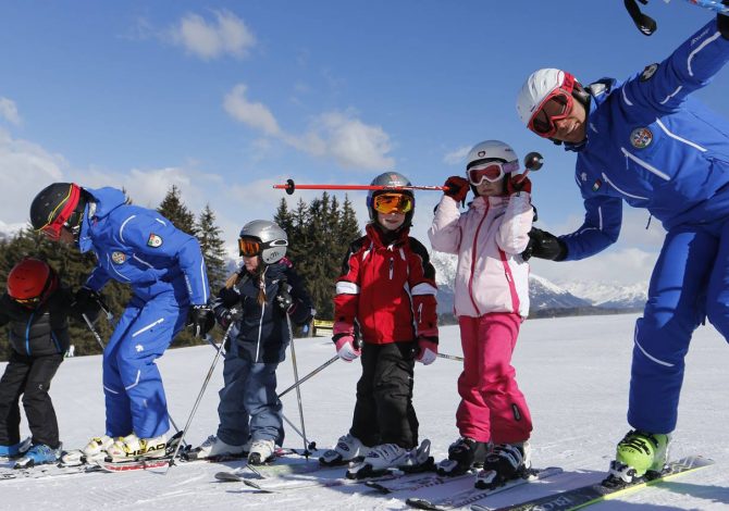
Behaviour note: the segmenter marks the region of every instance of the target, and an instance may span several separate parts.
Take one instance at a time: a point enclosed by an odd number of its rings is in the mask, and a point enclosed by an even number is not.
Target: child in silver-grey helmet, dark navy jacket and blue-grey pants
[[[289,325],[308,323],[309,294],[285,258],[288,238],[275,223],[256,220],[240,230],[243,265],[218,295],[215,316],[223,328],[235,322],[225,344],[220,424],[188,456],[194,459],[245,456],[261,464],[275,459],[284,440],[276,367],[285,358]],[[286,315],[291,319],[287,321]]]

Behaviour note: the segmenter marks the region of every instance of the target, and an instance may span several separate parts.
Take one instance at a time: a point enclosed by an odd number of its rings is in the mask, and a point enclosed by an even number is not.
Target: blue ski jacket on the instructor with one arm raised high
[[[712,20],[662,63],[589,87],[586,141],[566,145],[578,152],[585,209],[582,226],[560,236],[566,260],[618,239],[622,201],[647,209],[667,230],[729,215],[729,122],[689,96],[727,60],[729,40]]]

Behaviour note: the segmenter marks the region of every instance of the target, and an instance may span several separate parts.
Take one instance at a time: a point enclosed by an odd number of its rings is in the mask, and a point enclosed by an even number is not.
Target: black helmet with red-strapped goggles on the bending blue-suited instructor
[[[81,221],[86,208],[86,192],[74,183],[53,183],[38,192],[30,203],[30,224],[51,239],[58,239],[61,228],[69,229],[78,240]]]

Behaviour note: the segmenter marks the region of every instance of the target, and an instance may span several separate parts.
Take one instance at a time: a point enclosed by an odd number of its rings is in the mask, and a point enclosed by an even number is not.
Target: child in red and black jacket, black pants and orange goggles
[[[341,359],[361,356],[362,375],[351,428],[319,460],[323,465],[361,460],[349,477],[432,463],[430,441],[418,447],[412,385],[416,360],[430,364],[437,354],[435,270],[422,244],[408,236],[415,197],[401,187],[409,180],[387,172],[372,185],[384,189],[368,195],[367,235],[345,256],[332,339]]]

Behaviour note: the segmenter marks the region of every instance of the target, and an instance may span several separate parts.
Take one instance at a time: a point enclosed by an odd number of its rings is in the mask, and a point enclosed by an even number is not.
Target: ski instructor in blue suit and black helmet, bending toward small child
[[[76,292],[79,312],[95,308],[109,279],[132,286],[103,350],[106,435],[92,438],[84,454],[115,460],[164,454],[170,421],[155,360],[188,317],[196,335],[214,324],[197,239],[157,211],[131,205],[122,190],[71,183],[44,188],[30,205],[30,222],[50,239],[97,256],[98,265]]]

